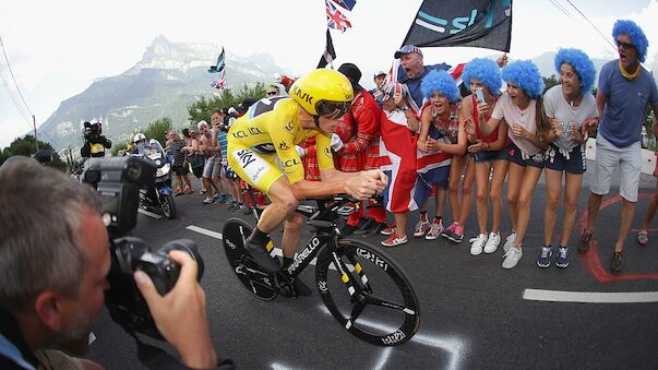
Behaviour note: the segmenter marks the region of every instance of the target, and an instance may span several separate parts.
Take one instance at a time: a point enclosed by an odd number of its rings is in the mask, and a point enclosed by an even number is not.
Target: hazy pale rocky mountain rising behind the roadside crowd
[[[158,36],[128,71],[97,79],[62,102],[38,129],[39,136],[52,139],[55,147],[71,145],[79,153],[83,144],[81,121],[94,117],[101,119],[103,133],[115,143],[132,139],[134,129],[144,129],[163,117],[171,118],[176,126],[187,124],[188,106],[215,92],[210,83],[217,74],[207,70],[219,52],[215,45],[171,43]],[[227,85],[235,89],[244,83],[270,81],[275,72],[284,71],[270,55],[242,58],[226,53]]]

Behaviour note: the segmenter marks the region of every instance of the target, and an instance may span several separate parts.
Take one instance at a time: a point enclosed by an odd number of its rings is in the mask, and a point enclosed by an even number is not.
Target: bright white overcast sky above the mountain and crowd
[[[337,53],[334,67],[356,63],[363,73],[361,84],[371,87],[372,74],[390,68],[421,3],[357,0],[354,10],[345,12],[352,28],[332,31]],[[175,43],[224,46],[242,57],[267,52],[279,67],[303,74],[315,68],[324,51],[326,29],[323,0],[0,0],[0,10],[7,58],[37,127],[62,100],[82,93],[95,79],[121,74],[139,62],[158,35]],[[658,22],[650,22],[658,19],[658,0],[515,0],[509,56],[529,59],[560,47],[576,47],[593,58],[614,59],[615,49],[609,43],[618,19],[643,27],[649,38],[645,67],[650,68],[658,53]],[[427,64],[455,64],[499,53],[479,48],[423,49]],[[8,71],[2,55],[0,63]],[[32,118],[24,118],[5,86],[0,86],[0,148],[31,129]]]

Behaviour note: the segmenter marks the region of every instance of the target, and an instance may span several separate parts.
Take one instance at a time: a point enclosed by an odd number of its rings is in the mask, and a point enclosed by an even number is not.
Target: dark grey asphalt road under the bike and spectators
[[[588,171],[578,199],[573,246],[579,236],[590,181]],[[651,193],[655,187],[655,178],[642,177],[642,193]],[[611,275],[621,203],[610,198],[599,213],[593,249],[579,255],[573,248],[569,268],[551,265],[542,270],[535,260],[543,232],[545,196],[540,182],[523,259],[510,271],[501,268],[502,249],[471,256],[466,241],[455,244],[443,239],[416,239],[386,249],[412,282],[421,308],[416,336],[388,348],[350,335],[327,313],[316,291],[311,297],[278,297],[273,301],[262,301],[247,291],[229,267],[217,235],[204,231],[222,232],[224,222],[237,215],[222,205],[202,205],[198,194],[176,198],[179,215],[175,220],[140,214],[133,234],[154,248],[177,238],[196,241],[206,266],[202,285],[213,341],[218,355],[231,358],[238,368],[657,369],[658,232],[649,232],[646,247],[636,242],[636,231],[631,232],[624,271]],[[648,194],[643,194],[634,228],[647,205]],[[239,216],[253,224],[249,216]],[[503,230],[510,229],[506,217],[505,213]],[[416,219],[414,214],[409,227]],[[557,231],[562,217],[558,219]],[[475,229],[474,207],[466,237],[475,236]],[[383,238],[367,240],[379,246]],[[310,286],[314,286],[312,267],[301,275]],[[105,310],[94,333],[97,338],[88,354],[91,359],[108,369],[143,368],[136,360],[134,341]]]

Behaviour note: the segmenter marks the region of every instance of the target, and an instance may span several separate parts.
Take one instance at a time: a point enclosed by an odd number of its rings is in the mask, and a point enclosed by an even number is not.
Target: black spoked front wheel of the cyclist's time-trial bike
[[[315,278],[331,314],[358,338],[396,346],[418,331],[420,307],[402,268],[375,247],[339,239],[336,251],[324,248]]]

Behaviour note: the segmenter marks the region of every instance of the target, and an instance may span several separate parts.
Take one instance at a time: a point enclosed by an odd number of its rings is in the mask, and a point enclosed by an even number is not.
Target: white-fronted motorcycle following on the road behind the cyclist
[[[148,146],[136,156],[147,158],[156,166],[155,187],[140,189],[140,205],[145,210],[159,208],[165,217],[176,218],[176,203],[171,191],[171,160],[165,154],[163,145],[151,139]]]

